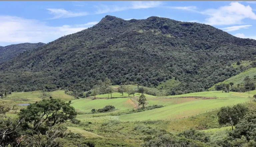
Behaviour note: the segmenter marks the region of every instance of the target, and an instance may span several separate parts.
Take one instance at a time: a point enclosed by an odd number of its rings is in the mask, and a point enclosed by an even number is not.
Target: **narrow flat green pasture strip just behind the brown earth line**
[[[203,91],[195,93],[187,93],[181,95],[171,95],[166,97],[217,97],[217,98],[248,98],[248,94],[241,92],[222,92],[222,91]],[[250,97],[253,96],[250,94]]]

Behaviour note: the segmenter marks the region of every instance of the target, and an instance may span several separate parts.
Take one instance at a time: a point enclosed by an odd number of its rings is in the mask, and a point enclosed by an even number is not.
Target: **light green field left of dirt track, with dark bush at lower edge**
[[[124,111],[127,109],[136,108],[136,104],[130,98],[116,99],[78,99],[71,102],[71,106],[83,112],[91,112],[92,109],[103,108],[107,105],[112,105],[116,111]]]

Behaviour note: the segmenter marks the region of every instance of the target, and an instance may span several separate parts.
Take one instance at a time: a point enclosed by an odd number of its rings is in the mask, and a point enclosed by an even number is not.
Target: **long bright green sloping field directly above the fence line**
[[[247,101],[249,101],[248,98],[217,98],[206,100],[200,99],[143,112],[125,114],[119,116],[119,119],[122,121],[175,119],[196,115],[199,113],[217,109],[222,106],[244,103]]]

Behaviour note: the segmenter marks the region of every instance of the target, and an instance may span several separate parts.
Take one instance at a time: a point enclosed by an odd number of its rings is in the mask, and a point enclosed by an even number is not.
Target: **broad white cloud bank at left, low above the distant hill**
[[[48,43],[64,35],[87,29],[94,23],[86,23],[87,27],[63,25],[48,26],[44,22],[33,19],[24,19],[15,16],[0,16],[0,45],[7,43]]]

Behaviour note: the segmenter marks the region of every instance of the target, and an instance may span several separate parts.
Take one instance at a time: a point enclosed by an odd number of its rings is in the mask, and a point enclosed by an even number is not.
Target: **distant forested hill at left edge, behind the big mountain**
[[[31,51],[37,47],[45,45],[45,43],[21,43],[21,44],[13,44],[8,46],[0,46],[0,64],[9,61],[12,58],[16,57],[20,53],[25,51]]]

